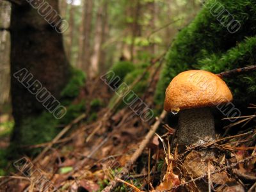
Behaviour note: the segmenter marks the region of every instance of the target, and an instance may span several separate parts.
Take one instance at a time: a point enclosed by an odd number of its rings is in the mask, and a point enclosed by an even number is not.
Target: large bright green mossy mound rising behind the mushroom
[[[225,12],[221,13],[223,8]],[[237,31],[230,31],[228,23],[234,24],[232,18],[241,25]],[[193,22],[175,38],[157,84],[156,103],[163,104],[166,87],[173,77],[184,70],[203,69],[218,74],[255,65],[255,22],[254,1],[207,1]],[[255,80],[253,73],[225,79],[234,93],[235,102],[239,100],[244,106],[252,102],[256,93]]]

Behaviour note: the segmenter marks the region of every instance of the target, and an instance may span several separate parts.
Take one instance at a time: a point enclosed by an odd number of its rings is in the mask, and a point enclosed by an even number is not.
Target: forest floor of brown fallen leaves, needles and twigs
[[[141,99],[154,108],[159,68],[147,70],[151,78]],[[87,82],[80,96],[86,95],[86,100],[100,97],[108,103],[113,94],[96,79]],[[52,142],[33,146],[42,152],[34,159],[18,160],[12,176],[1,178],[0,191],[54,191],[52,186],[58,191],[90,192],[255,191],[255,125],[179,152],[175,129],[164,123],[165,112],[150,124],[128,106],[102,108],[97,120],[86,123],[89,114],[90,110],[70,122]],[[228,128],[242,127],[254,118],[253,114],[241,116]],[[215,155],[205,156],[205,148]]]

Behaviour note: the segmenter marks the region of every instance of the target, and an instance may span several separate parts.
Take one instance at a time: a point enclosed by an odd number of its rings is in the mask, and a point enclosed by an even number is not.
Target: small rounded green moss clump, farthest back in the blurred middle
[[[120,77],[121,81],[124,81],[124,77],[135,69],[134,65],[130,61],[119,61],[115,63],[110,70],[115,73],[115,76]],[[109,81],[110,79],[108,79]]]

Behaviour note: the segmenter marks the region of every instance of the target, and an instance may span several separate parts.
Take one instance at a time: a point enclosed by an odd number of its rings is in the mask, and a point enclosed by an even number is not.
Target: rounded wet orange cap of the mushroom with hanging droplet
[[[204,70],[188,70],[174,77],[165,92],[164,110],[204,108],[232,100],[227,84]]]

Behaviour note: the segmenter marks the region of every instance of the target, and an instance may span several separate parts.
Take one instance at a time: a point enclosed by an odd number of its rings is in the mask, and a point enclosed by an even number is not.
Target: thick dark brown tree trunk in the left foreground
[[[13,74],[26,68],[33,75],[33,79],[38,79],[56,99],[60,97],[61,90],[70,77],[70,66],[65,56],[62,35],[56,31],[57,29],[60,32],[60,28],[56,27],[60,18],[52,19],[54,16],[52,10],[49,15],[41,13],[41,15],[47,15],[43,17],[26,1],[20,2],[21,5],[13,4],[12,6],[10,26],[11,93],[15,119],[12,141],[15,141],[16,145],[19,145],[22,139],[24,140],[20,134],[23,120],[40,116],[45,108],[42,102],[38,102],[35,95],[31,94]],[[48,0],[47,3],[58,12],[58,1]],[[45,18],[55,26],[52,27]],[[36,127],[34,129],[33,131],[36,132]],[[43,134],[42,130],[38,134]]]

